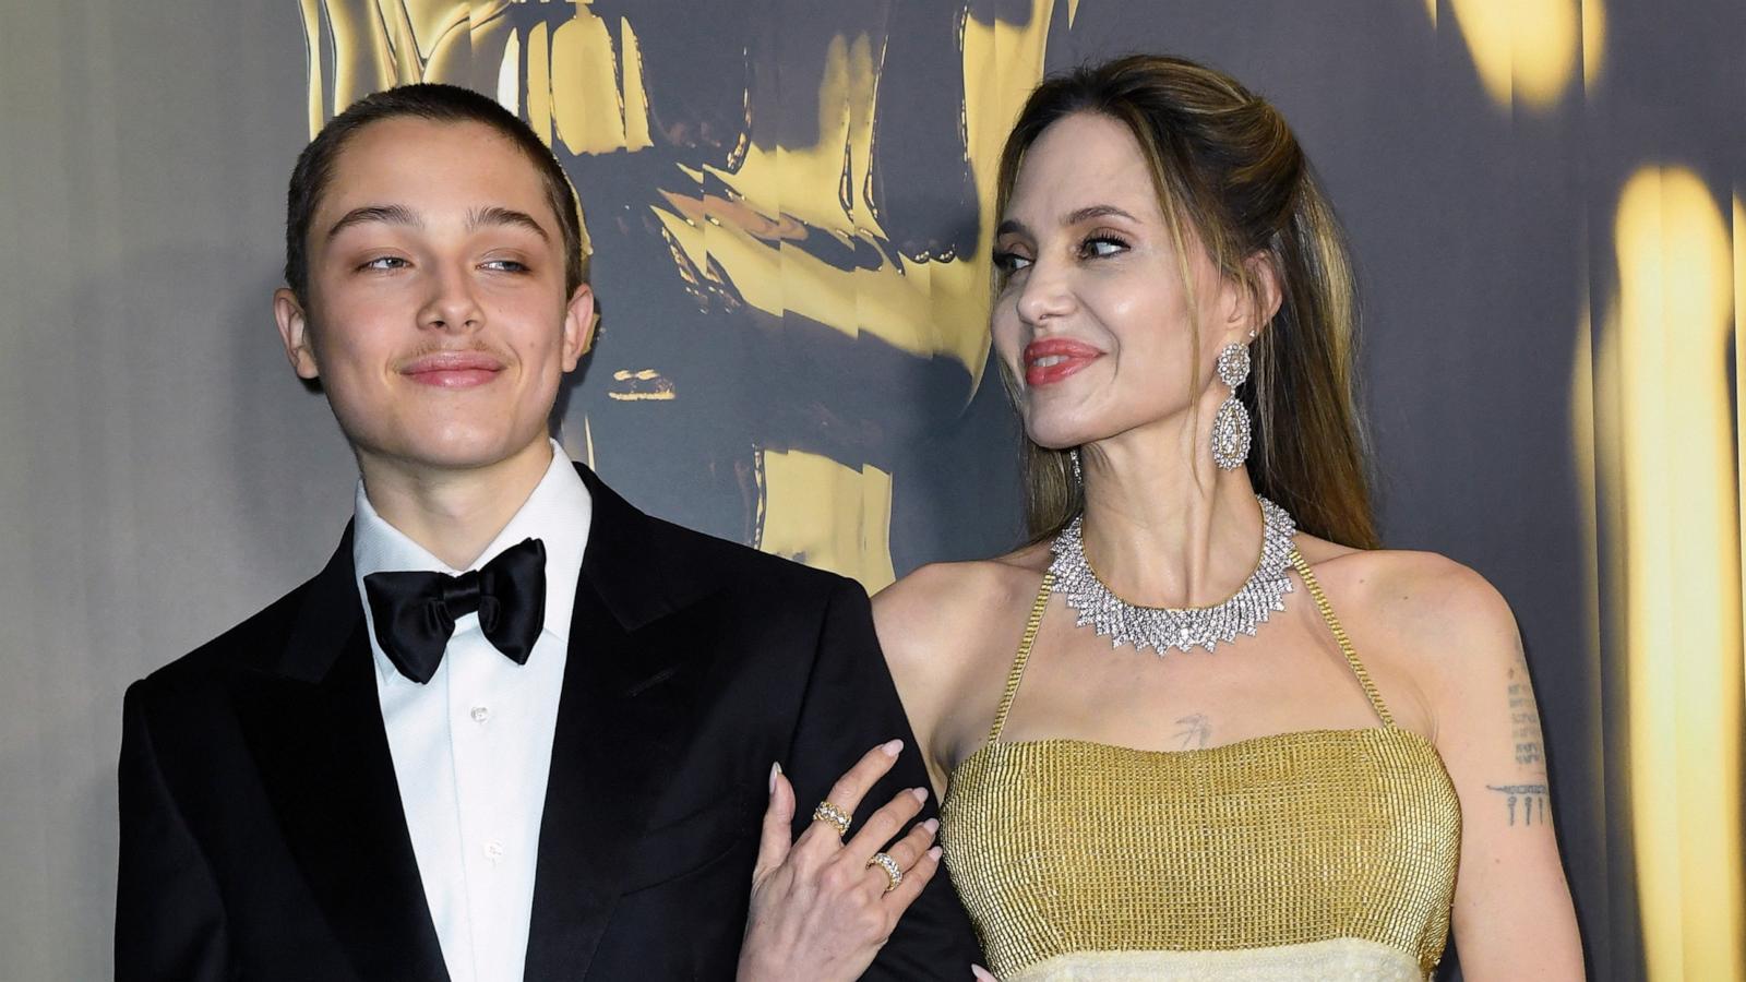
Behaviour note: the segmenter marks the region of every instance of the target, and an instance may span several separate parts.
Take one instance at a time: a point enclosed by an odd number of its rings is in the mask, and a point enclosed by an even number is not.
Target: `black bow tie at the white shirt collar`
[[[436,674],[454,620],[475,610],[491,647],[524,666],[545,626],[545,543],[524,538],[459,577],[370,573],[363,592],[382,654],[419,685]]]

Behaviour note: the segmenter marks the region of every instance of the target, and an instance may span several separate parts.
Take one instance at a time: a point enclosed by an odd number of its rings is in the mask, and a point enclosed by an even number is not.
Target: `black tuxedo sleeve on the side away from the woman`
[[[117,982],[227,979],[218,884],[157,764],[141,683],[127,688],[120,737]]]

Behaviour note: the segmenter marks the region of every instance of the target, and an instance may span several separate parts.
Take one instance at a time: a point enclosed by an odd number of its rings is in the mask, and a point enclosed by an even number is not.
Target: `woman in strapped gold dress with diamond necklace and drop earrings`
[[[1044,82],[993,344],[1032,545],[875,599],[1006,982],[1580,979],[1509,606],[1378,549],[1343,239],[1210,68]],[[1259,559],[1257,559],[1259,557]]]

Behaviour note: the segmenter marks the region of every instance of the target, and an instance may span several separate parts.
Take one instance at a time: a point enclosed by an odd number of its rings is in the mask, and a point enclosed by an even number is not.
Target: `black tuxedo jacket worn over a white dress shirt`
[[[770,764],[796,830],[868,748],[859,818],[925,786],[854,582],[594,496],[540,830],[527,982],[732,979]],[[351,533],[267,610],[127,690],[122,980],[442,980]],[[929,806],[932,814],[932,806]],[[945,874],[870,979],[967,979]],[[482,980],[485,982],[485,980]]]

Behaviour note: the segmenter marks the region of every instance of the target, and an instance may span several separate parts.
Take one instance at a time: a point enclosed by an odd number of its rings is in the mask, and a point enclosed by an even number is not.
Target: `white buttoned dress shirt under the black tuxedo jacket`
[[[456,619],[442,664],[424,685],[400,674],[382,654],[363,578],[379,571],[464,570],[449,568],[377,515],[361,481],[354,512],[353,563],[375,652],[375,690],[449,977],[519,982],[569,620],[588,543],[588,488],[553,442],[552,467],[473,564],[484,566],[524,538],[545,543],[545,627],[527,664],[492,648],[478,615],[468,613]]]

